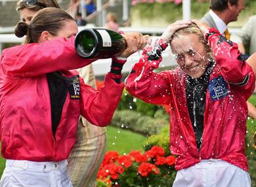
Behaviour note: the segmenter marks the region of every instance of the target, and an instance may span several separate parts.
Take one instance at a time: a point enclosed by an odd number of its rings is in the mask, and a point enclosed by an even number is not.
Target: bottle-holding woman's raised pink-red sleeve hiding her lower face
[[[81,58],[75,53],[74,39],[60,37],[5,49],[1,55],[3,72],[11,77],[28,77],[91,64],[94,60]]]

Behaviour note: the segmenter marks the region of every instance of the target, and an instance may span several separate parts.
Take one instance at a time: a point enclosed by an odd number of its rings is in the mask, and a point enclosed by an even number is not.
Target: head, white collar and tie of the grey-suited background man
[[[216,28],[226,39],[230,39],[227,26],[230,22],[238,20],[242,10],[244,10],[244,0],[211,0],[209,12],[200,21]]]

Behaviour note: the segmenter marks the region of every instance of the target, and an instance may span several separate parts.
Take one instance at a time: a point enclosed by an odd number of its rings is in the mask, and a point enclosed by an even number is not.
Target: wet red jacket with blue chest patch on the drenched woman
[[[200,150],[188,113],[188,75],[180,68],[154,73],[161,62],[161,51],[167,47],[167,43],[160,40],[158,46],[144,50],[142,58],[127,77],[125,87],[129,93],[145,102],[170,106],[170,150],[178,156],[175,165],[177,170],[195,165],[200,159],[213,158],[223,159],[247,171],[246,100],[254,90],[254,73],[240,59],[235,43],[226,41],[219,31],[213,29],[207,37],[216,62],[205,93]]]

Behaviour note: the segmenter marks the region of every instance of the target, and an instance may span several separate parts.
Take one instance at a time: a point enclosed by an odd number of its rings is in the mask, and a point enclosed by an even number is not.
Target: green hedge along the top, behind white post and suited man
[[[209,2],[198,3],[192,1],[191,3],[191,17],[200,19],[209,10]],[[248,20],[249,16],[256,14],[256,1],[245,0],[245,10],[240,12],[238,21],[231,22],[230,27],[242,27]],[[176,20],[182,19],[182,4],[175,5],[175,3],[138,3],[131,8],[131,22],[137,22],[138,19],[152,20],[148,23],[153,26],[162,22],[162,27],[167,26]],[[142,22],[143,24],[143,22]]]

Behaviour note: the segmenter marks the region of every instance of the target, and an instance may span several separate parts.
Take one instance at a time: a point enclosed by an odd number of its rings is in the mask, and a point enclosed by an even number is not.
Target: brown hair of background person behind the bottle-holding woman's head
[[[16,5],[16,11],[20,11],[22,9],[30,9],[33,11],[38,11],[47,7],[55,7],[60,9],[56,0],[37,0],[37,3],[34,6],[27,5],[26,1],[20,0]]]

